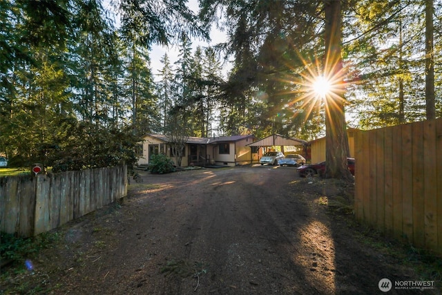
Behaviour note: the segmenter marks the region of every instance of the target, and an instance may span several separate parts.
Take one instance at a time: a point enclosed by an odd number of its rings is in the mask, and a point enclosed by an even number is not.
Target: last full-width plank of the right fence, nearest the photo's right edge
[[[436,200],[436,125],[434,120],[423,122],[423,199],[425,247],[437,248]]]

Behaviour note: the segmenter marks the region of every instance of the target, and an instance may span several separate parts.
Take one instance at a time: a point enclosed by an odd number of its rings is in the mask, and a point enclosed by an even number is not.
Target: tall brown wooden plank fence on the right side
[[[442,256],[442,118],[356,135],[356,218]]]

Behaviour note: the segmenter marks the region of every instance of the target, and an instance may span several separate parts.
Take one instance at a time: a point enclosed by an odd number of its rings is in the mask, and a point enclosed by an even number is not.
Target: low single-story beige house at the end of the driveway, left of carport
[[[182,166],[236,166],[251,164],[260,158],[247,144],[256,140],[253,135],[222,137],[189,137],[184,148]],[[139,165],[146,165],[152,155],[164,153],[174,162],[170,140],[166,135],[148,134],[137,148]]]

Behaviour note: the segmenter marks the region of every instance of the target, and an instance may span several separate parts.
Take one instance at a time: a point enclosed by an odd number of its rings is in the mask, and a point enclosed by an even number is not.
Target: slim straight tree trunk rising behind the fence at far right
[[[434,99],[433,0],[425,0],[425,106],[427,120],[436,118]]]

